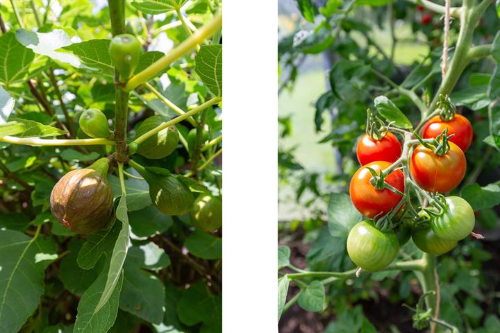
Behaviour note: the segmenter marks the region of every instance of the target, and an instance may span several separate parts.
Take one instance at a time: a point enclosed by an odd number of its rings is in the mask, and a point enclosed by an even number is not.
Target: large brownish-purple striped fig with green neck
[[[66,228],[89,234],[115,222],[113,191],[106,179],[109,162],[103,157],[90,167],[69,171],[52,189],[51,212]]]

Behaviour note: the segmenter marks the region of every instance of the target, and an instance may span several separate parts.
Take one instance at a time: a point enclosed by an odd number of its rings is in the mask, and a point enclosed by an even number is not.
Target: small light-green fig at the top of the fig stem
[[[134,35],[124,33],[113,37],[109,53],[111,62],[119,73],[120,82],[125,82],[131,78],[133,71],[138,66],[142,45]]]

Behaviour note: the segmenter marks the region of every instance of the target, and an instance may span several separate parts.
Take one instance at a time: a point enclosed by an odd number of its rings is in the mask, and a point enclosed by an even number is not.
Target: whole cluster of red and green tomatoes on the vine
[[[471,234],[475,217],[469,203],[441,195],[462,181],[464,151],[473,135],[467,118],[460,114],[449,118],[445,121],[438,115],[424,124],[422,140],[408,153],[410,158],[401,157],[401,143],[389,131],[378,139],[365,134],[359,140],[356,153],[361,167],[351,179],[349,193],[353,205],[368,219],[349,232],[347,252],[360,268],[378,271],[391,264],[410,237],[422,251],[442,255]],[[405,179],[401,169],[408,167]],[[430,192],[424,194],[432,199],[431,207],[419,211],[409,207],[410,192],[405,192],[405,186]],[[389,219],[390,228],[387,224],[381,228],[381,219]]]

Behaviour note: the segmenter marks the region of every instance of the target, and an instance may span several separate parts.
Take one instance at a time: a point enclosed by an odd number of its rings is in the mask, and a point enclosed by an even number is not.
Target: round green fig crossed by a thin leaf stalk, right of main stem
[[[140,137],[144,133],[149,132],[153,128],[160,126],[162,123],[169,121],[167,117],[156,115],[144,120],[135,135]],[[137,153],[147,158],[160,159],[166,157],[177,148],[178,145],[178,132],[175,126],[169,126],[155,133],[155,135],[148,137],[138,145]]]

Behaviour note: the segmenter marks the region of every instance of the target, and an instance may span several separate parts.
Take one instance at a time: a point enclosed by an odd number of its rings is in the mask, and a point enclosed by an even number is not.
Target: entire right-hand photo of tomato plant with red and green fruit
[[[368,2],[297,1],[299,19],[278,6],[280,332],[486,332],[500,324],[487,296],[500,280],[487,266],[498,4]],[[383,235],[398,241],[394,260]]]

